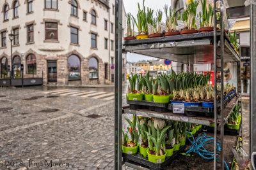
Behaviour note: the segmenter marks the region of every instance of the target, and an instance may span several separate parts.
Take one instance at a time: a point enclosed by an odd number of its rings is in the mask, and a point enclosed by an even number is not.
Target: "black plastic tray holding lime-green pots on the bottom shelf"
[[[153,162],[150,162],[147,158],[143,157],[143,155],[141,155],[140,152],[135,153],[133,155],[123,153],[123,158],[124,158],[124,162],[138,164],[138,166],[147,167],[148,169],[160,170],[160,169],[164,169],[164,167],[171,164],[172,161],[176,159],[180,153],[184,152],[185,148],[186,148],[186,145],[180,147],[178,151],[173,152],[173,155],[171,157],[166,157],[165,161],[161,164],[155,164]]]

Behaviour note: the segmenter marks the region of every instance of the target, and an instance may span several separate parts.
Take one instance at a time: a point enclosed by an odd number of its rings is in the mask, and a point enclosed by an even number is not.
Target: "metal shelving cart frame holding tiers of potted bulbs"
[[[236,104],[241,104],[241,72],[239,53],[234,50],[230,43],[227,33],[223,30],[223,15],[220,20],[216,20],[216,13],[221,8],[216,8],[214,0],[214,31],[188,35],[139,39],[125,41],[122,43],[122,0],[116,0],[116,53],[115,53],[115,169],[122,169],[122,114],[131,113],[143,117],[157,117],[180,122],[189,122],[193,124],[210,125],[214,127],[214,161],[213,169],[224,169],[224,150],[231,150],[233,145],[237,145],[237,136],[227,136],[228,144],[224,141],[224,125]],[[218,1],[220,3],[220,1]],[[227,18],[226,18],[227,19]],[[216,25],[220,24],[220,31],[216,30]],[[171,112],[157,113],[150,110],[131,110],[129,107],[122,108],[122,53],[132,52],[161,59],[168,59],[175,62],[182,62],[189,65],[190,71],[193,71],[193,64],[211,63],[214,66],[214,118],[209,117],[186,117],[184,115]],[[217,73],[223,75],[223,65],[225,62],[236,62],[237,66],[237,97],[234,97],[227,106],[223,101],[223,76],[217,77]],[[221,90],[217,90],[217,84],[221,85]],[[217,97],[221,100],[218,103]],[[220,107],[220,114],[218,108]],[[217,134],[220,131],[220,135]],[[212,136],[213,137],[213,136]],[[216,150],[217,143],[221,144],[221,151]],[[230,153],[228,162],[232,162],[234,155]],[[227,162],[227,160],[226,160]],[[136,169],[143,167],[125,162],[126,166]],[[209,162],[205,166],[209,167]],[[211,169],[209,167],[209,169]]]

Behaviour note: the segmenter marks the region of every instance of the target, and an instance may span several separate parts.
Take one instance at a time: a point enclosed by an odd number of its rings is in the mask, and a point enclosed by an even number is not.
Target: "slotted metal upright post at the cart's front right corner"
[[[218,4],[217,4],[218,3]],[[214,169],[224,169],[224,118],[223,118],[223,16],[221,13],[220,4],[221,1],[214,0]],[[216,14],[220,13],[220,20],[217,20]],[[220,25],[220,39],[217,39],[217,25]],[[220,66],[218,66],[220,65]],[[218,77],[217,74],[221,76]],[[220,85],[221,89],[217,89],[217,85]],[[220,96],[220,115],[218,114],[218,101],[217,96]],[[217,120],[220,119],[220,125],[217,125]],[[217,131],[220,130],[220,136],[217,135]],[[217,150],[217,143],[221,143],[220,150]]]

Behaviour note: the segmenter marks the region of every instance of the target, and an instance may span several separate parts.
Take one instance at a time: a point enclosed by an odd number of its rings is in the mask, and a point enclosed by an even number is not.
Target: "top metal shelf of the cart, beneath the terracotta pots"
[[[220,39],[220,31],[217,38]],[[125,41],[124,51],[185,64],[214,63],[214,32]],[[224,32],[224,62],[237,62],[240,57]],[[217,50],[220,53],[220,48]]]

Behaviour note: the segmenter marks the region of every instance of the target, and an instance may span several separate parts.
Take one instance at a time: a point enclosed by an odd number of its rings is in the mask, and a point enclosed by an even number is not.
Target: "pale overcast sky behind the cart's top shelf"
[[[136,16],[138,13],[138,3],[140,3],[140,6],[143,4],[143,0],[124,0],[124,7],[126,13],[131,13]],[[156,16],[157,9],[161,9],[163,11],[164,4],[168,4],[168,6],[171,6],[171,0],[145,0],[145,6],[146,8],[152,8],[154,10],[154,15]],[[165,19],[165,14],[163,15],[163,20]],[[134,53],[127,53],[127,60],[130,62],[136,62],[138,60],[150,60],[154,59],[152,57],[145,57],[144,55],[137,55]]]

